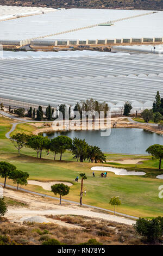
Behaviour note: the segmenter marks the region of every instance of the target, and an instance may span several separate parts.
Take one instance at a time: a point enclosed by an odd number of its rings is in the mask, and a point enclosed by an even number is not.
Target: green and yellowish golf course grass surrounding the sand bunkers
[[[162,216],[163,199],[158,197],[158,188],[162,185],[162,180],[156,179],[155,176],[163,174],[163,161],[161,166],[162,170],[160,172],[157,169],[159,164],[158,160],[149,159],[140,164],[139,168],[135,168],[135,164],[124,165],[107,163],[105,166],[121,167],[129,170],[143,170],[147,174],[145,176],[118,176],[108,172],[107,178],[100,178],[99,175],[101,172],[96,171],[96,178],[92,178],[92,171],[90,168],[92,166],[102,166],[104,164],[72,161],[72,155],[68,151],[63,155],[64,161],[53,161],[52,153],[47,156],[46,152],[43,152],[43,158],[45,157],[46,159],[37,159],[35,157],[35,151],[28,148],[23,148],[21,150],[21,155],[18,156],[17,149],[9,139],[4,137],[5,132],[10,130],[11,120],[6,118],[5,120],[3,118],[2,120],[2,118],[0,118],[0,121],[0,161],[8,161],[15,164],[18,169],[28,172],[30,174],[29,179],[72,182],[74,185],[70,188],[70,194],[64,198],[79,202],[80,180],[79,183],[76,183],[74,182],[74,179],[79,173],[85,172],[87,180],[84,180],[84,189],[86,189],[87,194],[83,197],[83,203],[113,210],[113,207],[109,205],[109,200],[112,196],[120,196],[122,204],[117,206],[117,211],[119,212],[133,216]],[[21,124],[19,124],[19,126],[20,125]],[[20,127],[21,129],[24,129],[24,127]],[[106,157],[108,160],[150,158],[149,156],[116,154],[106,154]],[[3,180],[4,179],[0,178],[1,182],[3,182]],[[12,181],[7,180],[7,183],[12,184]],[[53,195],[52,192],[45,191],[40,186],[27,185],[25,188]]]

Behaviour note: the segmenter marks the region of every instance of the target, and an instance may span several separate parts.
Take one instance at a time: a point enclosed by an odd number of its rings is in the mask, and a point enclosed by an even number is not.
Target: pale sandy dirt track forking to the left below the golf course
[[[105,214],[99,211],[93,211],[91,208],[83,207],[70,203],[58,204],[57,200],[42,198],[27,193],[21,193],[17,191],[4,189],[4,196],[10,197],[15,200],[21,200],[28,204],[28,208],[9,206],[8,212],[5,215],[9,220],[14,222],[21,222],[21,218],[29,218],[33,216],[45,216],[45,215],[80,215],[94,218],[101,218],[107,221],[115,221],[118,223],[124,223],[131,225],[135,223],[133,220],[129,220],[124,217]],[[48,218],[48,221],[51,220]],[[51,220],[53,222],[53,220]]]

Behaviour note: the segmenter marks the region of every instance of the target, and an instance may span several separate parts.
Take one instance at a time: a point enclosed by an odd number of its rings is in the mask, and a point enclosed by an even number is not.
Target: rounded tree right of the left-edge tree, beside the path
[[[29,174],[26,172],[22,172],[21,170],[14,170],[10,173],[10,179],[14,181],[14,183],[17,184],[17,190],[18,185],[27,185],[27,179],[29,178]]]

